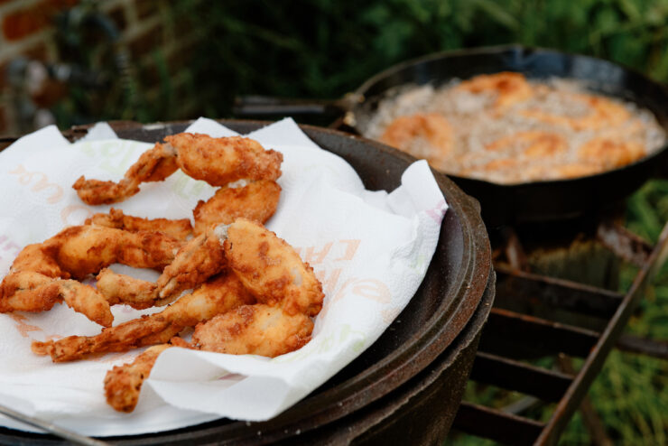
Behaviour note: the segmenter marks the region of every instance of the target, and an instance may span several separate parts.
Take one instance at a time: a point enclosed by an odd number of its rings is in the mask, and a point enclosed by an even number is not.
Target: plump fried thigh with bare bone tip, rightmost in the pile
[[[324,298],[320,281],[311,266],[274,232],[238,218],[227,228],[224,246],[229,267],[258,302],[281,302],[290,315],[320,312]]]

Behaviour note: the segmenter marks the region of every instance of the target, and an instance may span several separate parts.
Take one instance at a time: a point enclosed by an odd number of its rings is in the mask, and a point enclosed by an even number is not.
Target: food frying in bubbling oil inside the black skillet
[[[381,101],[365,135],[443,172],[501,184],[605,172],[665,144],[651,112],[583,87],[501,72],[410,88]]]

